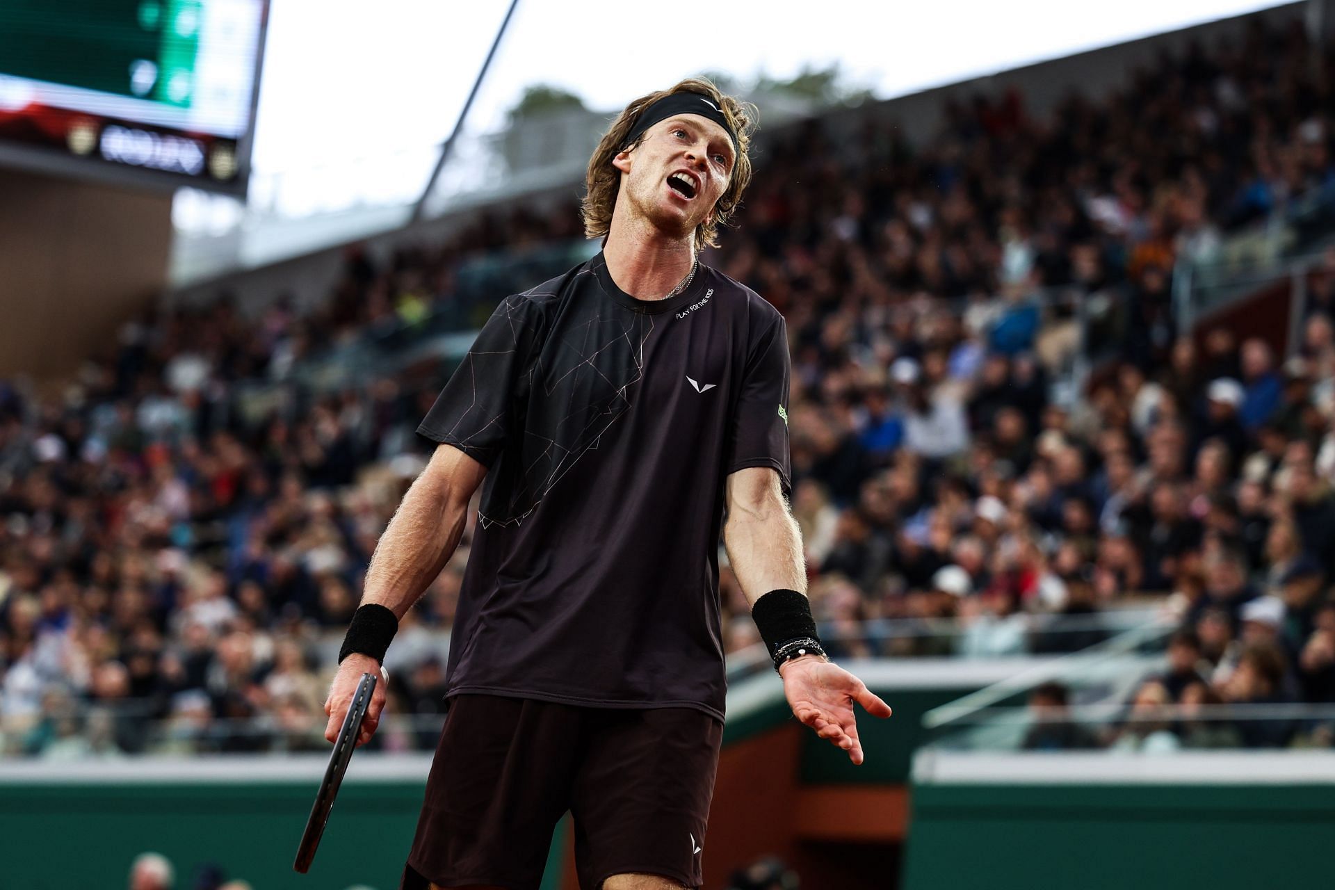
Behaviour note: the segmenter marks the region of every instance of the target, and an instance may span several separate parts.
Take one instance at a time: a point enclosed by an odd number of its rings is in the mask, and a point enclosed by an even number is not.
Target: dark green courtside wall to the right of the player
[[[1328,887],[1330,785],[914,785],[905,890]]]

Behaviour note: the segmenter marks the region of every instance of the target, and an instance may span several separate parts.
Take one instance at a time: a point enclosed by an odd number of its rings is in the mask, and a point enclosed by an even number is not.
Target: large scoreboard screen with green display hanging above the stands
[[[0,164],[244,193],[267,0],[0,0]]]

